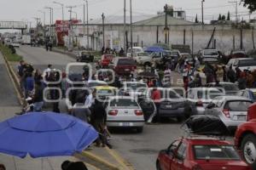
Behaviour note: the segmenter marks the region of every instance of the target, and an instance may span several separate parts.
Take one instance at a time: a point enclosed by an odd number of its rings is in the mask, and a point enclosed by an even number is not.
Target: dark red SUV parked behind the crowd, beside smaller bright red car
[[[135,60],[127,57],[116,57],[113,59],[113,64],[109,66],[118,75],[130,75],[132,71],[137,69]]]

